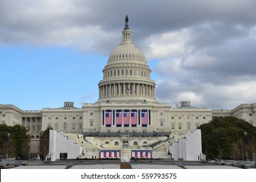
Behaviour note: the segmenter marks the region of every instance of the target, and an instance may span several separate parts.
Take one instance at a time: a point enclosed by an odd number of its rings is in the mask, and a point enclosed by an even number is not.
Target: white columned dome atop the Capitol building
[[[126,21],[122,42],[109,55],[103,79],[98,83],[98,101],[155,101],[156,84],[143,52],[132,44],[132,31]]]

